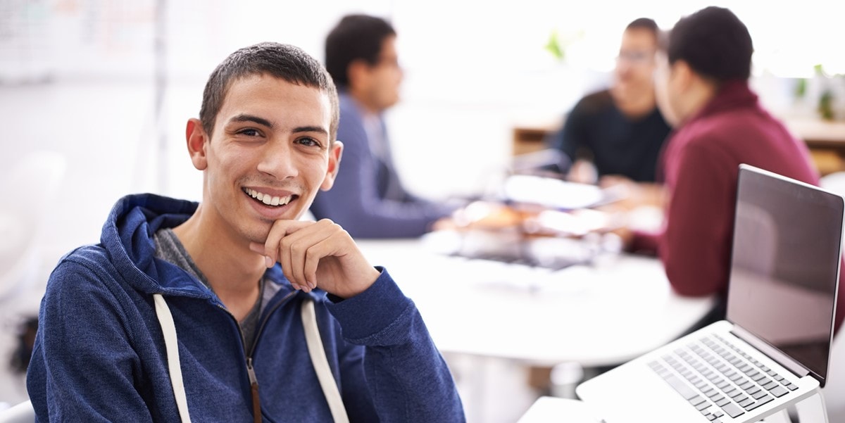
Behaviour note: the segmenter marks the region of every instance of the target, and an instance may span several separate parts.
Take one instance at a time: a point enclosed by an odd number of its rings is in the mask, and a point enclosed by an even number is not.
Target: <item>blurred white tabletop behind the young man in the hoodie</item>
[[[439,350],[553,366],[608,366],[678,338],[713,297],[678,296],[657,258],[608,255],[562,270],[433,252],[424,240],[358,241],[423,314]]]

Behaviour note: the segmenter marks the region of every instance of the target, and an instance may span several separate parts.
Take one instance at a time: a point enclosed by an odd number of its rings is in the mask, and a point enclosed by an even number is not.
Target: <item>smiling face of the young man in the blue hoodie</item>
[[[214,133],[194,155],[204,170],[212,226],[264,242],[275,220],[295,220],[334,182],[341,144],[330,144],[329,96],[271,76],[232,82]]]

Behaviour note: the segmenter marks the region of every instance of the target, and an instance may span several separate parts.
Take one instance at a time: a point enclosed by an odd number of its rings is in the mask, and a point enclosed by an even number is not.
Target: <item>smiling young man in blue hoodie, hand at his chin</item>
[[[202,203],[125,197],[51,275],[38,420],[464,420],[413,302],[339,225],[297,220],[335,182],[337,122],[303,51],[227,57],[186,130]]]

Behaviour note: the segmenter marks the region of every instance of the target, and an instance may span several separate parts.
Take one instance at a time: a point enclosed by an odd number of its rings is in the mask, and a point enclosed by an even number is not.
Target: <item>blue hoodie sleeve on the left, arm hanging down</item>
[[[27,390],[37,421],[152,421],[134,387],[139,357],[112,290],[68,260],[41,301]]]

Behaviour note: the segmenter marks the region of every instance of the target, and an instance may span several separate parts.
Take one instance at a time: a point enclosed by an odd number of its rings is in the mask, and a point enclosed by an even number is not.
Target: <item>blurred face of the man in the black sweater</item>
[[[652,89],[656,50],[657,40],[649,30],[624,31],[616,59],[614,94],[629,100],[630,96],[643,95]]]

